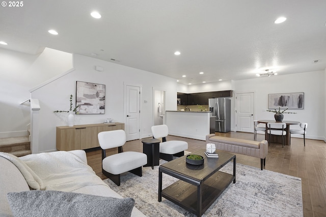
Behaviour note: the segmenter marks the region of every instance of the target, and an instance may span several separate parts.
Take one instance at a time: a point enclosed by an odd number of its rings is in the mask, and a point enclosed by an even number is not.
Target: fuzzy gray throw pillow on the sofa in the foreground
[[[132,198],[112,198],[59,191],[10,192],[14,216],[130,216]]]

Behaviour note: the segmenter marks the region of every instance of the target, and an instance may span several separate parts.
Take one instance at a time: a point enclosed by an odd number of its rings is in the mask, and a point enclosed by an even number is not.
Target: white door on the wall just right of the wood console
[[[126,86],[126,140],[140,139],[140,87]]]

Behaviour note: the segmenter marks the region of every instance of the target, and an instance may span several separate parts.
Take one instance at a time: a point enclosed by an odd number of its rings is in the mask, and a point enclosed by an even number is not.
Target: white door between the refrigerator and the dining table
[[[236,130],[254,132],[254,93],[236,94]]]

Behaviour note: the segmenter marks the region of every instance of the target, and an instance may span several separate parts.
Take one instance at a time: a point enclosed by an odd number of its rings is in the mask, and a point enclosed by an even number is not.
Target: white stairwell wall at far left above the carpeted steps
[[[0,48],[0,138],[27,134],[30,89],[72,67],[71,54],[45,48],[38,55]]]

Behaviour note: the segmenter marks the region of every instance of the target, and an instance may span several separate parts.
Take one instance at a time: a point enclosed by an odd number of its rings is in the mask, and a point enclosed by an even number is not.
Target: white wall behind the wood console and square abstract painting
[[[32,97],[38,98],[41,105],[39,152],[56,149],[56,126],[67,125],[67,114],[55,114],[53,111],[69,110],[69,96],[72,94],[75,100],[77,80],[105,85],[106,95],[105,114],[76,115],[75,125],[101,123],[106,118],[125,123],[124,84],[142,86],[142,138],[151,135],[153,87],[166,89],[166,110],[176,110],[177,84],[173,78],[75,54],[73,66],[75,70],[72,72],[32,92]],[[104,71],[96,71],[95,66],[103,67]],[[144,102],[145,100],[147,103]],[[75,105],[75,102],[73,104]]]

